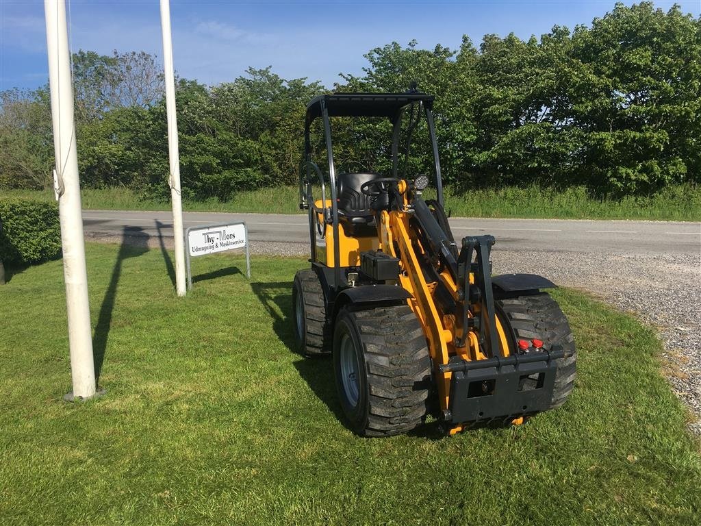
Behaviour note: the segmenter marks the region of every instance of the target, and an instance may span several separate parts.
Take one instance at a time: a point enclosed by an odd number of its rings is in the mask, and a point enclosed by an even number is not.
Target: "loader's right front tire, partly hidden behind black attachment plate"
[[[548,351],[554,345],[562,345],[565,356],[556,360],[557,373],[550,408],[564,404],[577,375],[577,351],[569,322],[557,302],[546,292],[540,292],[497,299],[496,310],[511,338],[510,349],[517,349],[519,339],[528,342],[540,339],[543,349]]]

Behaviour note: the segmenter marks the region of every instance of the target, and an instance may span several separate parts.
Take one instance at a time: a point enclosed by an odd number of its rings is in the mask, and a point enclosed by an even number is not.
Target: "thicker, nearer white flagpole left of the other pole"
[[[95,395],[93,334],[88,304],[81,188],[78,179],[76,129],[73,117],[73,84],[64,0],[44,0],[48,78],[51,90],[51,121],[56,173],[59,181],[58,210],[66,282],[68,341],[71,353],[73,391],[67,399]]]

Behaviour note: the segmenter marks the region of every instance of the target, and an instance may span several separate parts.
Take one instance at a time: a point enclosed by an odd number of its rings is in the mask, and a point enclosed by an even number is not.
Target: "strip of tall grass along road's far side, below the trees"
[[[8,195],[53,198],[48,192],[9,191]],[[430,194],[427,192],[427,196]],[[299,213],[297,187],[242,191],[231,201],[186,201],[185,210],[213,212]],[[607,220],[701,220],[701,187],[667,187],[651,196],[597,198],[584,187],[531,186],[482,189],[454,194],[446,190],[447,210],[455,217],[533,217]],[[168,201],[139,198],[125,188],[84,189],[83,207],[110,210],[170,210]]]

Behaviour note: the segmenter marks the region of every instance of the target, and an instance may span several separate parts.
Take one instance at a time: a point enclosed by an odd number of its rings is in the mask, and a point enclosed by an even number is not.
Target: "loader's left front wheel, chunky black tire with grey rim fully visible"
[[[409,306],[341,309],[333,356],[341,407],[355,433],[398,435],[424,422],[431,361]]]

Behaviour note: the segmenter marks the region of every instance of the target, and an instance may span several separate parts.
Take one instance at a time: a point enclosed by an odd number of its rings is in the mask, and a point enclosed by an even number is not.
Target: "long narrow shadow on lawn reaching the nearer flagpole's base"
[[[95,333],[93,334],[93,358],[95,360],[95,381],[100,380],[104,354],[107,350],[107,339],[114,311],[114,300],[117,295],[117,285],[122,273],[122,262],[129,257],[137,257],[149,251],[149,236],[139,227],[124,227],[122,244],[119,247],[117,259],[114,262],[112,276],[107,290],[104,292],[100,314],[97,316]]]

